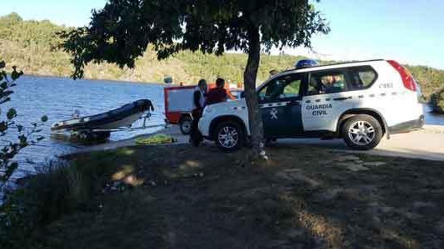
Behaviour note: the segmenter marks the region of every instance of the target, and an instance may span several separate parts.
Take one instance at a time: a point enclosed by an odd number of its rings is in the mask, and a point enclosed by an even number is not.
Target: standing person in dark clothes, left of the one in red
[[[199,132],[199,119],[202,117],[202,111],[205,106],[205,98],[207,92],[207,84],[205,79],[200,79],[197,84],[197,89],[193,93],[193,121],[191,123],[190,141],[193,146],[199,146],[203,137]]]

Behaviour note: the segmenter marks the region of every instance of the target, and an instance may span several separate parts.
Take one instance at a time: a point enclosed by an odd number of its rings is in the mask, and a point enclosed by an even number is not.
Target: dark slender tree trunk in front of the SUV
[[[254,157],[259,157],[263,151],[263,125],[256,93],[256,76],[260,60],[259,29],[250,29],[248,35],[248,61],[244,71],[245,100],[250,121],[252,152]]]

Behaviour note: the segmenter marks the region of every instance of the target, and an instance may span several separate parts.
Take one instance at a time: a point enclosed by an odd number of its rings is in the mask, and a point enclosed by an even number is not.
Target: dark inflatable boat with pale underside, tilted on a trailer
[[[93,131],[130,127],[145,112],[154,111],[151,101],[143,99],[108,112],[78,117],[52,124],[51,131]]]

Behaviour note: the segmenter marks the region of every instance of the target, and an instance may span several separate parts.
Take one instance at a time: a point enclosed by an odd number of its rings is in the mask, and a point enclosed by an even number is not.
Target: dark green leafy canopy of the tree
[[[312,34],[328,31],[306,1],[111,0],[93,11],[88,27],[60,36],[78,78],[89,62],[133,68],[149,44],[158,59],[184,50],[221,55],[226,50],[248,52],[259,32],[269,51],[272,46],[310,46]]]

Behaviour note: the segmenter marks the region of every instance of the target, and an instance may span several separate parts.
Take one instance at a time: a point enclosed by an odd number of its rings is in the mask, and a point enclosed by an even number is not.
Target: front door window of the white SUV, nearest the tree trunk
[[[301,84],[301,74],[290,74],[275,78],[259,90],[259,99],[279,100],[299,97]]]

